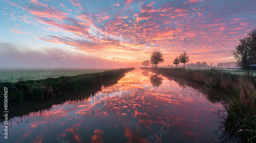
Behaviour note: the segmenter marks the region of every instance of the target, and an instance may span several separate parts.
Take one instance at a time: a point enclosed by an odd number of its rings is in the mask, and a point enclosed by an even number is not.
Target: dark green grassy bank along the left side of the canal
[[[61,96],[70,91],[81,91],[95,86],[107,86],[112,79],[120,79],[134,68],[106,70],[102,73],[84,74],[74,77],[48,78],[44,80],[19,81],[17,83],[0,83],[0,88],[8,88],[8,104],[23,104]],[[0,91],[0,106],[4,105],[4,90]]]

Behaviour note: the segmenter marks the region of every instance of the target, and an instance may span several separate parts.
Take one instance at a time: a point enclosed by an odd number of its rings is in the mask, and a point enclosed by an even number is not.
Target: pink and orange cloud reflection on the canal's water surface
[[[7,141],[58,142],[62,138],[69,142],[218,141],[214,132],[219,125],[214,121],[218,116],[212,112],[218,111],[220,105],[209,103],[205,94],[191,86],[180,88],[177,81],[152,75],[145,77],[136,69],[114,86],[101,87],[100,92],[96,89],[95,96],[87,100],[59,99],[60,105],[49,100],[50,110],[40,114],[24,112],[27,115],[22,120],[27,122],[20,123],[19,117],[9,120],[12,127]],[[158,79],[157,84],[152,83],[155,79]],[[161,86],[154,88],[156,85]],[[68,96],[81,99],[87,92]],[[30,108],[38,105],[41,106],[35,103]],[[168,128],[167,124],[172,126]],[[3,129],[2,125],[0,127]],[[1,134],[0,142],[4,141]]]

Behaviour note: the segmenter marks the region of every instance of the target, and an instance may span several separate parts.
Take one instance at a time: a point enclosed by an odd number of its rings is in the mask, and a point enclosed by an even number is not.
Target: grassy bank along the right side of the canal
[[[141,68],[153,73],[184,78],[204,84],[204,90],[217,88],[229,93],[223,99],[227,115],[223,117],[225,129],[221,139],[230,141],[239,139],[242,142],[256,141],[256,77],[249,73],[234,75],[221,70],[187,70],[184,68]],[[232,135],[232,137],[231,137]]]

